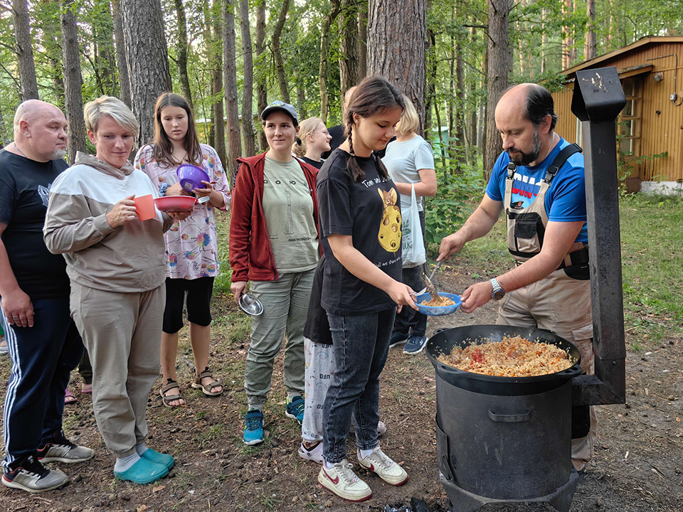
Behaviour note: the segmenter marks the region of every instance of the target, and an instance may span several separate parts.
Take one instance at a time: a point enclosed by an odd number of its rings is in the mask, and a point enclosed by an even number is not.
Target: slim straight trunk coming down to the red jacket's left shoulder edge
[[[228,112],[228,159],[226,169],[231,183],[237,175],[237,159],[242,156],[240,142],[240,111],[237,104],[237,67],[235,65],[235,3],[223,1],[223,82]]]

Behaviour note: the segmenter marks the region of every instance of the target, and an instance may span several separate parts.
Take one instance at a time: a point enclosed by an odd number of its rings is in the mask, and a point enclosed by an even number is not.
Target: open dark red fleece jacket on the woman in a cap
[[[230,219],[230,266],[232,281],[277,281],[268,228],[263,213],[263,166],[265,153],[239,158],[240,169],[233,188]],[[313,198],[313,216],[320,240],[318,201],[315,196],[317,169],[297,159]],[[319,247],[321,247],[319,245]],[[322,248],[322,247],[321,247]],[[321,251],[322,253],[322,251]]]

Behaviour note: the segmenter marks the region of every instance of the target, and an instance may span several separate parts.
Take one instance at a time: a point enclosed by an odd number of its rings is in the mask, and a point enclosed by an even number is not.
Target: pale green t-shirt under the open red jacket
[[[318,262],[313,198],[299,162],[265,157],[263,212],[277,272],[305,272]]]

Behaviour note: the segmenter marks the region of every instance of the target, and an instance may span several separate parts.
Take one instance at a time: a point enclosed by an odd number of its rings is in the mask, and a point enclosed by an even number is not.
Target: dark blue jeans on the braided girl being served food
[[[379,374],[395,316],[395,308],[359,316],[327,314],[337,361],[323,407],[323,456],[331,464],[346,459],[351,417],[358,447],[374,449],[378,444]]]

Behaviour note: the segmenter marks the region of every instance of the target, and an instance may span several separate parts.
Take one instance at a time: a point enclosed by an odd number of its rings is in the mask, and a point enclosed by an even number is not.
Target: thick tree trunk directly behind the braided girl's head
[[[425,121],[425,38],[427,0],[370,0],[368,11],[368,73],[393,82],[413,100]]]

